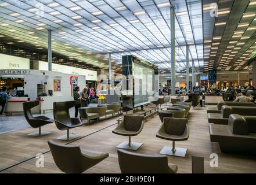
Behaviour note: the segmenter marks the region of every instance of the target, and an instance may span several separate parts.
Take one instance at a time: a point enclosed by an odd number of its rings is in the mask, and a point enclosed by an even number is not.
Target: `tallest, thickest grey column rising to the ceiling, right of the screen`
[[[174,95],[176,86],[175,72],[175,10],[171,6],[171,94]]]

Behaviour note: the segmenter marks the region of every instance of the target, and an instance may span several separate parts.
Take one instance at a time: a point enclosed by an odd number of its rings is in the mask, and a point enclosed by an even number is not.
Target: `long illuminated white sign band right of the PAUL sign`
[[[38,61],[39,70],[48,70],[48,62]],[[97,80],[97,71],[91,71],[88,69],[74,68],[72,66],[52,64],[52,71],[58,71],[71,75],[84,75],[86,80]]]

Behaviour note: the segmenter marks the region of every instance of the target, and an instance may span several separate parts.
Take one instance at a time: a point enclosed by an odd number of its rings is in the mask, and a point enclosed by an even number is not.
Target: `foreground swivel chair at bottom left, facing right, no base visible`
[[[75,145],[60,145],[48,140],[53,160],[65,173],[82,173],[109,157],[108,153],[91,153]]]

